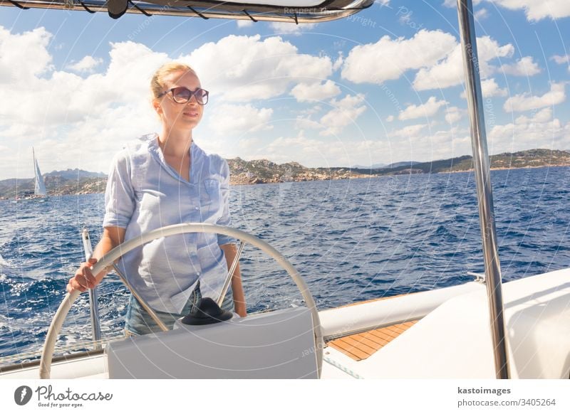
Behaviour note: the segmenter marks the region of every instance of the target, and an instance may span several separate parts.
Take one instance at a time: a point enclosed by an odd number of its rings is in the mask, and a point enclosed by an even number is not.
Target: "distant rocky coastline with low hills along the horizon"
[[[550,149],[529,149],[490,157],[491,169],[526,169],[547,166],[570,166],[570,152]],[[283,182],[362,179],[375,176],[438,174],[472,171],[472,157],[459,156],[430,162],[396,163],[380,168],[307,168],[297,162],[276,164],[266,159],[245,161],[228,159],[230,185],[243,186]],[[49,196],[105,192],[107,177],[101,173],[81,170],[53,171],[44,177]],[[14,198],[17,193],[33,190],[33,179],[0,181],[0,199]]]

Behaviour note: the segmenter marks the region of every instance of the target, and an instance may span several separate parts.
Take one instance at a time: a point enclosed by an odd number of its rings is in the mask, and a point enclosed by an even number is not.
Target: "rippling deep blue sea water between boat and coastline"
[[[570,266],[570,168],[493,171],[503,280]],[[472,174],[235,186],[236,228],[271,243],[299,270],[319,309],[458,285],[483,272]],[[98,240],[103,194],[0,201],[0,356],[38,351],[67,280]],[[240,262],[248,311],[301,303],[293,282],[251,246]],[[128,292],[99,287],[103,336],[121,334]],[[58,345],[90,339],[81,294]]]

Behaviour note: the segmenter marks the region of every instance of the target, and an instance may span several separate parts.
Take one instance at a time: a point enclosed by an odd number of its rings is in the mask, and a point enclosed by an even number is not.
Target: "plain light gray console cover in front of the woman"
[[[296,307],[134,336],[106,348],[109,378],[317,378],[311,312]]]

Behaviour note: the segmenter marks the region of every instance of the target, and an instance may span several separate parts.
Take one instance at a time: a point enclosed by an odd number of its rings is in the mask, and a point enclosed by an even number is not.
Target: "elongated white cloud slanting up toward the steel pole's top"
[[[354,47],[341,75],[354,83],[381,84],[400,78],[406,70],[434,65],[455,44],[455,37],[442,31],[421,30],[410,39],[383,36],[376,43]]]

